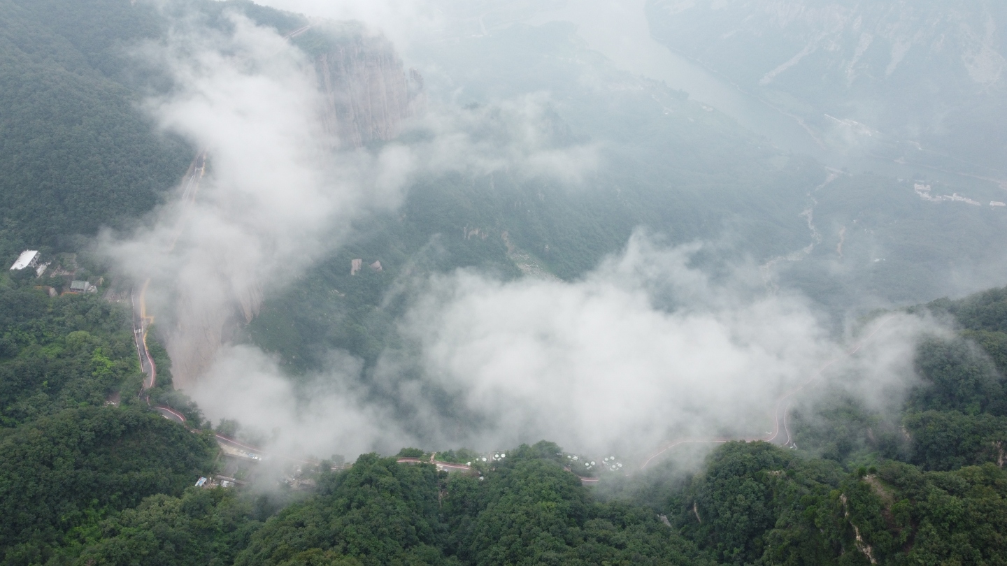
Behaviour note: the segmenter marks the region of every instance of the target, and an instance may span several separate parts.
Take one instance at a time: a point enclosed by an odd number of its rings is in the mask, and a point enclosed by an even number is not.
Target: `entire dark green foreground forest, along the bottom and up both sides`
[[[839,393],[803,406],[798,450],[730,442],[698,469],[669,459],[595,487],[546,441],[508,451],[478,475],[364,454],[348,468],[322,461],[307,497],[191,486],[221,466],[208,429],[171,423],[132,399],[140,376],[121,307],[29,285],[0,290],[0,301],[5,564],[1003,564],[1007,556],[1007,288],[909,309],[958,328],[919,343],[920,383],[909,398],[894,414]]]

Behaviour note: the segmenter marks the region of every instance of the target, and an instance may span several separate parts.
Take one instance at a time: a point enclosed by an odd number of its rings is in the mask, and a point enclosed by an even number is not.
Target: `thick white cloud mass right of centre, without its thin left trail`
[[[404,328],[429,383],[399,394],[422,399],[434,384],[470,419],[458,440],[478,445],[545,437],[639,452],[669,438],[762,437],[776,399],[832,360],[825,379],[856,365],[868,389],[904,392],[920,322],[889,320],[847,358],[807,301],[765,294],[747,269],[715,281],[690,266],[696,251],[637,234],[573,283],[437,278]],[[436,403],[418,413],[437,423]],[[433,428],[458,435],[443,424]]]

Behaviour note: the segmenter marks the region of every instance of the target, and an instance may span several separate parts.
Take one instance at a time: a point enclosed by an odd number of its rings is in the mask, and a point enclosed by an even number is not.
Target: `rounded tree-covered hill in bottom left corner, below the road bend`
[[[65,409],[0,440],[0,548],[8,560],[65,544],[75,529],[180,494],[210,469],[211,440],[138,408]]]

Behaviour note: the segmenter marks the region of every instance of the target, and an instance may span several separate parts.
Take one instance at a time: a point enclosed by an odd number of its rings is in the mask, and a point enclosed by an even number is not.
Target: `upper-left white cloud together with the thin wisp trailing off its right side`
[[[176,387],[201,379],[263,297],[345,243],[354,221],[395,208],[416,175],[515,168],[576,182],[596,162],[592,147],[540,131],[545,95],[435,107],[406,125],[418,141],[336,149],[313,61],[271,28],[230,20],[230,32],[179,22],[139,50],[174,84],[147,111],[205,152],[207,173],[150,230],[103,243],[138,285],[150,280],[148,312],[167,336]]]

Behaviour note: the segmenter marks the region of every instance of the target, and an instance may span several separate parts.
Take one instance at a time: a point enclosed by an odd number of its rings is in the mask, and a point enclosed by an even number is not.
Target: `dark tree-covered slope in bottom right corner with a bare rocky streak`
[[[762,442],[718,448],[656,507],[721,564],[1003,564],[1007,471],[843,467]]]

